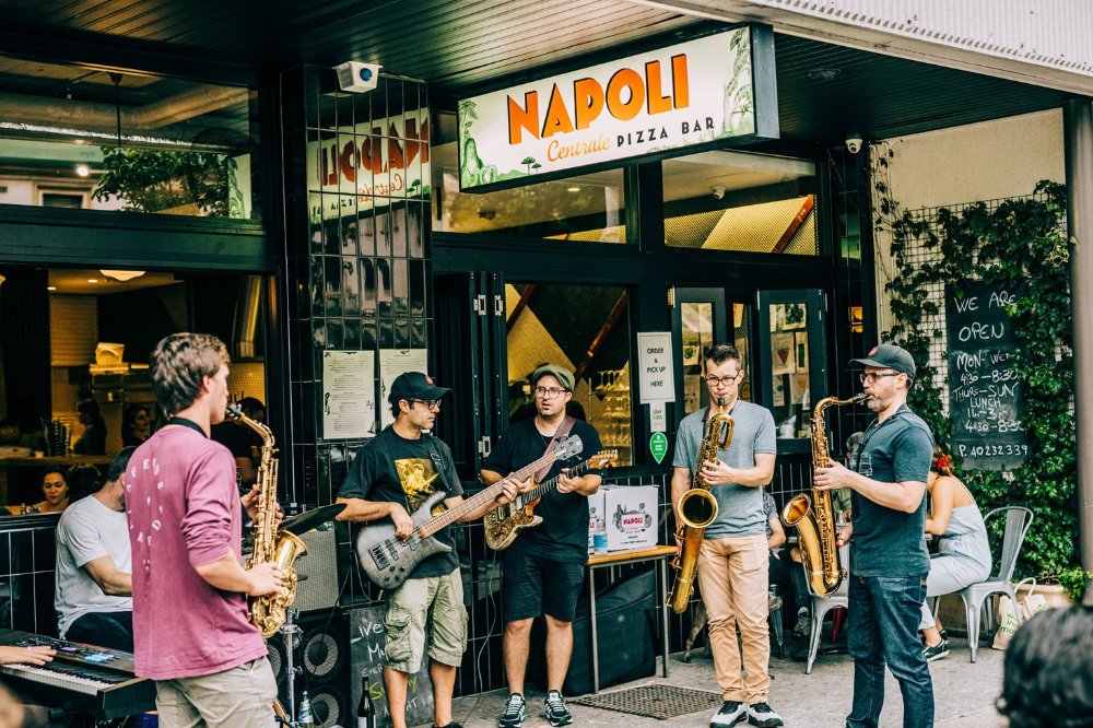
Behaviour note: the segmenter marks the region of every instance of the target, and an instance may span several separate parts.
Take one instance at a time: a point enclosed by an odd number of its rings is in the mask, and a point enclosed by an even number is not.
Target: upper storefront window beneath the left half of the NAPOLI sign
[[[432,154],[436,232],[626,243],[622,169],[471,193],[459,189],[456,142],[435,144]]]

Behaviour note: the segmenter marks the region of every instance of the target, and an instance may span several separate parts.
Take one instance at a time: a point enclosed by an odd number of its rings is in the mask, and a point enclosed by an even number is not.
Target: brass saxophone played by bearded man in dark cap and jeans
[[[827,453],[827,426],[824,424],[824,411],[828,407],[857,404],[869,395],[861,392],[849,399],[825,397],[816,402],[812,412],[812,469],[830,468],[831,455]],[[835,518],[831,507],[831,491],[812,489],[812,497],[801,493],[786,504],[781,510],[781,520],[786,526],[796,526],[798,545],[801,549],[801,561],[808,572],[809,584],[820,597],[830,597],[838,590],[838,585],[846,578],[846,570],[838,563],[838,547],[835,544]]]

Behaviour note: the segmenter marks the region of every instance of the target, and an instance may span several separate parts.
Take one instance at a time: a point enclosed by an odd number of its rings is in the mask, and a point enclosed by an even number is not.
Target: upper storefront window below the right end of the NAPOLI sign
[[[663,193],[668,247],[819,255],[812,162],[692,154],[663,163]]]

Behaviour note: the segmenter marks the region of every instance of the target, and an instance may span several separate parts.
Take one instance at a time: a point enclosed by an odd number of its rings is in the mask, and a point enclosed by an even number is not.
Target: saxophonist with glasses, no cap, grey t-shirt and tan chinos
[[[720,728],[748,720],[753,726],[780,726],[781,717],[766,702],[769,574],[762,486],[774,475],[774,418],[766,408],[740,400],[743,371],[736,347],[710,347],[705,365],[710,406],[680,422],[672,461],[672,507],[677,521],[682,522],[680,500],[692,485],[692,473],[718,504],[698,552],[698,589],[709,617],[714,667],[724,701],[709,725]],[[731,442],[717,451],[717,459],[697,462],[705,421],[718,414],[732,418]],[[747,678],[741,674],[741,654]]]

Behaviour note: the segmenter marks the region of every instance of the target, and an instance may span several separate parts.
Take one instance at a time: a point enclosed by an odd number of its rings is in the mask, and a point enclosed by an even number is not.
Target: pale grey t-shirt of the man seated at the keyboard
[[[91,577],[84,565],[109,556],[114,566],[132,573],[129,524],[124,510],[110,510],[98,498],[80,498],[61,515],[57,524],[57,585],[54,608],[58,633],[63,637],[72,622],[89,612],[132,611],[132,597],[107,595]]]

